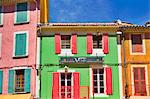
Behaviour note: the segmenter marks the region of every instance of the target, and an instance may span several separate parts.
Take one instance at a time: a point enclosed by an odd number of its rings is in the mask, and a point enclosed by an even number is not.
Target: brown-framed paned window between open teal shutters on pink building
[[[24,91],[24,69],[15,72],[15,92]]]

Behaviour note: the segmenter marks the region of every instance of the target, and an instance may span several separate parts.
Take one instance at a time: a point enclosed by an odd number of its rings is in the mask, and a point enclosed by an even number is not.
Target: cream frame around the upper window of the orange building
[[[130,54],[131,55],[145,55],[146,52],[145,52],[145,35],[142,34],[142,33],[136,33],[136,34],[140,34],[141,35],[141,39],[142,39],[142,49],[143,49],[143,52],[133,52],[132,50],[132,35],[135,35],[135,34],[129,34],[129,40],[130,40]]]

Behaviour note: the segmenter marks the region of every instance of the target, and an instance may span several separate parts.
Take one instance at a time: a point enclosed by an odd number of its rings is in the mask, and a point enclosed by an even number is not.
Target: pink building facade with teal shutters
[[[0,94],[36,97],[39,3],[2,5],[0,11]]]

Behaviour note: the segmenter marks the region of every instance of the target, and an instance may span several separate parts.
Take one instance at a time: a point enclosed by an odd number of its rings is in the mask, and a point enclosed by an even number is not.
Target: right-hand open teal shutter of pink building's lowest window
[[[31,69],[25,69],[25,82],[24,82],[24,90],[25,92],[30,92],[30,77],[31,75]]]

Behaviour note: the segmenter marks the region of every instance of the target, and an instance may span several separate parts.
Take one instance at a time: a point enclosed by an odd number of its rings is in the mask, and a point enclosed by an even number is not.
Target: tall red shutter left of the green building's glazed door
[[[52,99],[59,99],[59,73],[53,73]]]

